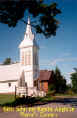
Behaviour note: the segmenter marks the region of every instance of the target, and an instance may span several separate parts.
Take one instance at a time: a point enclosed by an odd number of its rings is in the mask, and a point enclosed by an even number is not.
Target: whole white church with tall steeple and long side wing
[[[20,43],[19,49],[20,63],[0,65],[0,93],[16,91],[16,94],[21,96],[43,93],[34,86],[34,81],[39,77],[39,46],[32,33],[29,18],[24,40]]]

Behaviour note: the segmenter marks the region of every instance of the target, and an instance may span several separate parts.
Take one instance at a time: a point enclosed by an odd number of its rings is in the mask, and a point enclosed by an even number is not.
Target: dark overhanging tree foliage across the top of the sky
[[[26,23],[23,19],[25,11],[35,19],[32,26],[37,33],[43,33],[46,37],[56,35],[59,21],[55,17],[61,13],[57,3],[45,4],[44,0],[0,0],[0,22],[9,27],[15,27],[20,20]]]

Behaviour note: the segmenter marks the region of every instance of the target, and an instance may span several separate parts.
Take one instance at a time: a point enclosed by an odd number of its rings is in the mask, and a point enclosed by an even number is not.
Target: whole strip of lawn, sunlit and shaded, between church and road
[[[16,98],[12,94],[0,94],[0,106],[19,106],[19,105],[38,105],[44,104],[53,100],[56,100],[57,97],[65,98],[65,97],[73,97],[76,95],[66,95],[66,94],[56,94],[55,96],[45,96],[45,97],[36,97],[36,98]]]

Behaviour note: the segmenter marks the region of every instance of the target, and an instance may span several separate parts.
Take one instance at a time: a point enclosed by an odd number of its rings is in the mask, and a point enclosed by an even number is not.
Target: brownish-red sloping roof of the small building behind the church
[[[52,75],[52,71],[40,70],[39,81],[48,81]]]

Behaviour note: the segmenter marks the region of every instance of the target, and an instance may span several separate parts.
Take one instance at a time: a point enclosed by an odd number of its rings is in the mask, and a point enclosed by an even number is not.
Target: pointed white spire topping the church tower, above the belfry
[[[30,18],[28,18],[28,23],[26,27],[26,32],[24,35],[24,40],[20,43],[19,48],[25,48],[28,46],[37,46],[34,34],[32,33]]]

